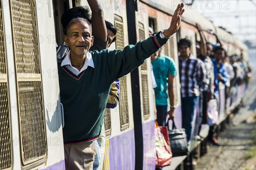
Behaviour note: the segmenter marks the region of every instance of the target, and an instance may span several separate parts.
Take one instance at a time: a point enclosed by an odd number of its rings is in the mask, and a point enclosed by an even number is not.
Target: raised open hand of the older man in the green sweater
[[[175,34],[179,30],[180,23],[181,23],[181,17],[182,17],[183,12],[185,11],[183,9],[183,7],[184,7],[183,3],[181,3],[177,6],[177,8],[172,16],[172,21],[171,21],[170,27],[163,32],[163,34],[166,37],[171,37],[173,34]]]

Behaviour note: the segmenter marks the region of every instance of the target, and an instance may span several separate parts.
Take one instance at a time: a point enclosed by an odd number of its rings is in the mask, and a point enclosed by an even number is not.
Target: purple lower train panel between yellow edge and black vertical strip
[[[134,169],[134,129],[109,139],[109,163],[111,170]]]

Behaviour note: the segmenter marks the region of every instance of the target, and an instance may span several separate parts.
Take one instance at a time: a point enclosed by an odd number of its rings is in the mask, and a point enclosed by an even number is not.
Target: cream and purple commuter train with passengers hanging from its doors
[[[110,49],[128,44],[168,28],[174,3],[153,0],[101,0],[105,19],[118,32]],[[169,6],[168,6],[169,3]],[[74,6],[87,6],[86,0],[0,0],[0,169],[65,169],[62,127],[63,108],[59,95],[56,44],[63,42],[61,15]],[[174,9],[174,8],[173,8]],[[214,31],[228,55],[243,55],[248,49],[232,34],[215,27],[204,17],[186,10],[180,30],[164,46],[164,54],[178,65],[177,42],[188,37],[199,40],[198,22],[215,44]],[[196,56],[195,43],[192,54]],[[120,101],[115,109],[105,110],[106,147],[103,169],[155,169],[154,106],[151,85],[151,61],[120,79]],[[239,104],[244,85],[238,87],[233,105],[225,103],[224,85],[220,85],[221,121],[224,111]],[[177,108],[175,121],[181,127],[179,77],[175,78]],[[199,112],[193,120],[192,140],[199,130]],[[206,137],[208,125],[200,135]],[[190,151],[200,149],[200,141]],[[170,169],[182,164],[186,156],[172,159]]]

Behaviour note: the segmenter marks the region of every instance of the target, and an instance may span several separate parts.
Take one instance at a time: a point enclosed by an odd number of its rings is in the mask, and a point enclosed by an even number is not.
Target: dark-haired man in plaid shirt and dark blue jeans
[[[192,120],[199,102],[199,84],[203,82],[205,70],[203,62],[191,53],[191,42],[181,39],[178,43],[179,71],[181,84],[182,127],[186,129],[187,140],[191,137]]]

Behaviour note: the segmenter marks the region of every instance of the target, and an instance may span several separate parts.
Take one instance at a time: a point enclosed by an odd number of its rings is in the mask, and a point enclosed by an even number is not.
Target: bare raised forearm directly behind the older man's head
[[[92,10],[92,28],[93,36],[100,40],[107,41],[107,28],[102,13],[102,8],[98,0],[87,0]]]

